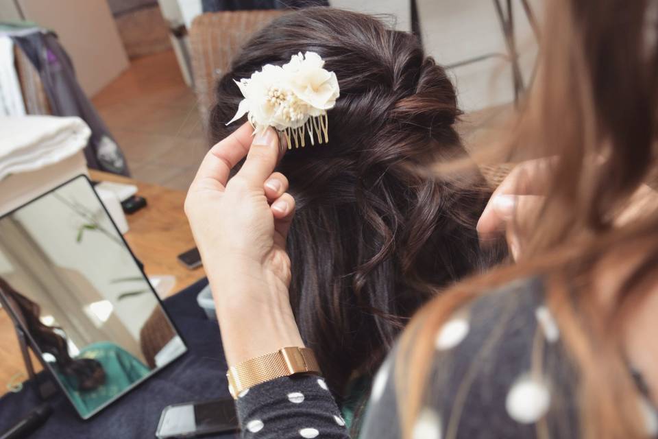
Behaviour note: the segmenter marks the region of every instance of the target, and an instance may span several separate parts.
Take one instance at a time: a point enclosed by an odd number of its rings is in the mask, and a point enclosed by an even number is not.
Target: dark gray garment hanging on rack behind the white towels
[[[71,58],[55,34],[38,31],[12,38],[39,72],[53,115],[80,117],[91,128],[91,137],[84,149],[88,167],[130,176],[123,152],[82,91]]]

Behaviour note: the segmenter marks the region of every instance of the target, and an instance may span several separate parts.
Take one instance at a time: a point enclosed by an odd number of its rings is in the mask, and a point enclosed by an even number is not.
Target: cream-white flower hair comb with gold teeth
[[[338,80],[324,69],[324,60],[315,52],[300,52],[283,66],[266,64],[252,77],[235,81],[242,99],[238,111],[226,125],[247,114],[254,134],[271,126],[278,130],[288,149],[303,147],[306,132],[311,145],[329,141],[327,110],[340,95]],[[323,139],[324,138],[324,139]]]

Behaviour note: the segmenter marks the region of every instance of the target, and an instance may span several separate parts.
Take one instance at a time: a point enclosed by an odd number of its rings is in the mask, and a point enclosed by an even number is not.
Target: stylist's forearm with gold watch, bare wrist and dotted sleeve
[[[223,289],[215,294],[215,305],[229,367],[287,346],[304,346],[287,285],[245,267],[208,272],[210,287]],[[317,375],[255,385],[241,392],[236,408],[243,438],[349,439],[336,401]]]

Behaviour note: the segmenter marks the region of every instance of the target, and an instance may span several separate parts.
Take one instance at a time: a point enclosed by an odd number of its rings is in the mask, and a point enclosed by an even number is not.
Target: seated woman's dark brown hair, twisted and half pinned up
[[[354,12],[292,12],[249,40],[217,84],[212,140],[239,126],[225,126],[242,99],[234,80],[305,51],[324,58],[341,96],[328,144],[307,141],[277,170],[297,205],[291,304],[340,397],[350,377],[376,370],[420,305],[482,263],[475,224],[489,194],[477,172],[419,175],[424,163],[465,156],[454,88],[415,36]]]

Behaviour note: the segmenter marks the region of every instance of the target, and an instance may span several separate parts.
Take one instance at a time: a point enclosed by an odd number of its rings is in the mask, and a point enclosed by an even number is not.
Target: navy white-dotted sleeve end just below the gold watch
[[[246,439],[349,439],[324,379],[283,377],[245,390],[236,401]]]

